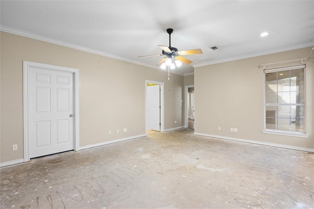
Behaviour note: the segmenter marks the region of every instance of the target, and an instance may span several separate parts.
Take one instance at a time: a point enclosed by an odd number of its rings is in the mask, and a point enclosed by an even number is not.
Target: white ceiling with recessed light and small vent
[[[314,0],[1,0],[0,9],[2,31],[157,69],[163,56],[138,56],[161,53],[173,28],[172,47],[203,51],[184,55],[194,62],[174,71],[182,75],[314,45]]]

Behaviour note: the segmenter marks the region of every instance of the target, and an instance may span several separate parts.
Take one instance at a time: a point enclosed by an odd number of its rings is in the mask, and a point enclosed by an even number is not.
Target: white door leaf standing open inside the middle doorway
[[[146,86],[147,129],[160,131],[160,85]]]

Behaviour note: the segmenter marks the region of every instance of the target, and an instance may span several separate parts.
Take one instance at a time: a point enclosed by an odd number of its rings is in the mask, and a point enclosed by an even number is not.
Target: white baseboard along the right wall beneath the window
[[[234,137],[228,137],[228,136],[212,135],[212,134],[207,134],[207,133],[194,132],[194,134],[200,135],[200,136],[208,136],[212,138],[220,138],[220,139],[227,139],[227,140],[232,140],[232,141],[251,143],[251,144],[279,147],[279,148],[285,148],[285,149],[290,149],[290,150],[299,150],[299,151],[312,152],[312,153],[314,152],[314,149],[305,148],[305,147],[296,147],[296,146],[290,146],[290,145],[285,145],[285,144],[275,144],[275,143],[270,143],[270,142],[254,141],[254,140],[240,139],[240,138],[234,138]]]

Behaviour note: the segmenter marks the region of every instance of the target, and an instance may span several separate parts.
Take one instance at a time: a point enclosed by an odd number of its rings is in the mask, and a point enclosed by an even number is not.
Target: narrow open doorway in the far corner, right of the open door
[[[194,129],[194,85],[185,86],[185,128]]]

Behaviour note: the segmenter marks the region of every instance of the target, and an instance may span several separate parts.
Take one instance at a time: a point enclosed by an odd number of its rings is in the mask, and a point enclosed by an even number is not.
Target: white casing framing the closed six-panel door
[[[74,150],[79,150],[79,70],[68,67],[61,67],[43,63],[23,61],[23,123],[24,123],[24,162],[30,160],[29,158],[29,139],[28,139],[28,68],[40,68],[52,71],[61,71],[73,73],[73,104],[74,104]]]

